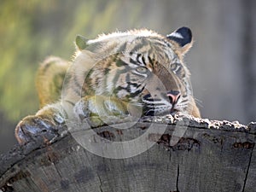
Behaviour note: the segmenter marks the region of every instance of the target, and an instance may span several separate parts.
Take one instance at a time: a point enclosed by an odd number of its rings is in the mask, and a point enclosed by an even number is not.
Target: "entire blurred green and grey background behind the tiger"
[[[202,116],[255,120],[255,10],[254,0],[0,0],[0,152],[16,143],[19,120],[38,110],[38,63],[71,60],[77,34],[189,26],[195,44],[186,61]]]

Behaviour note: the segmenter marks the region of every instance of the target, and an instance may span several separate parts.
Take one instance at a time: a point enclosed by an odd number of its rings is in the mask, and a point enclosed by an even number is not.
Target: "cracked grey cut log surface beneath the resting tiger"
[[[3,154],[0,191],[256,191],[255,123],[165,116],[87,128]]]

